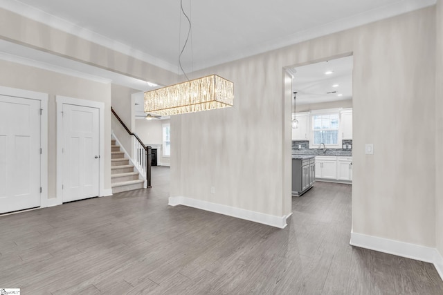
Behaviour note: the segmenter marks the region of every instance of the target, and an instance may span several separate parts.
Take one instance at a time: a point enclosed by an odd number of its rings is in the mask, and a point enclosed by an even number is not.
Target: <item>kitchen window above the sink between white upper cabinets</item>
[[[312,147],[318,148],[320,144],[338,148],[338,113],[321,113],[312,115]]]

